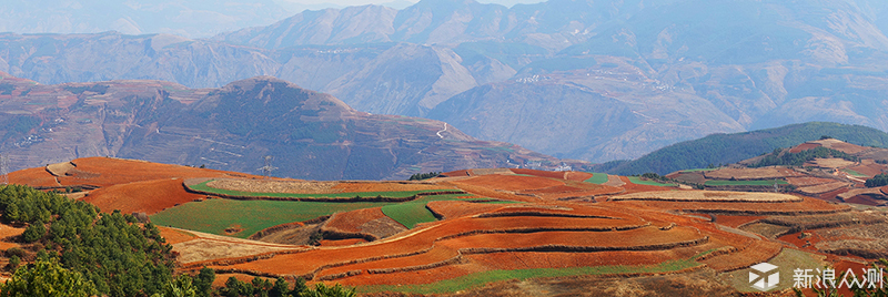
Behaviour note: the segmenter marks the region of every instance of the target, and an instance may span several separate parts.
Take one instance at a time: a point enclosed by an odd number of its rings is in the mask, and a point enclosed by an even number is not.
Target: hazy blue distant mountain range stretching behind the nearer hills
[[[809,121],[888,130],[888,2],[423,0],[174,35],[0,35],[0,71],[56,84],[273,75],[565,158],[636,158]]]

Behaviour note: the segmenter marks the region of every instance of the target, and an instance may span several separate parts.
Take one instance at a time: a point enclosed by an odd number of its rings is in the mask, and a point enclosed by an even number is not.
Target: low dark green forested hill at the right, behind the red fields
[[[880,130],[827,122],[809,122],[734,134],[713,134],[654,151],[634,161],[614,161],[596,165],[612,174],[632,175],[702,168],[709,164],[729,164],[789,147],[821,136],[831,136],[862,146],[888,147],[888,133]]]

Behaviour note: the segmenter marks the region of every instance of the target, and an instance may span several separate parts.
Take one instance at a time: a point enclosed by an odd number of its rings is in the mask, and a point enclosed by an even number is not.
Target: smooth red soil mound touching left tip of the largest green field
[[[157,180],[112,185],[90,192],[83,198],[102,212],[120,209],[124,214],[145,213],[153,215],[178,204],[204,198],[205,195],[185,191],[182,180]]]

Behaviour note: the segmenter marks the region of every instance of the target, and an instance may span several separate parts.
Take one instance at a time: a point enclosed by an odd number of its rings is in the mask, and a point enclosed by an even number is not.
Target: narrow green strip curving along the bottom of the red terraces
[[[502,280],[524,280],[542,277],[567,277],[578,275],[619,275],[619,274],[658,274],[676,272],[699,266],[696,257],[682,260],[669,260],[653,266],[587,266],[569,268],[535,268],[517,270],[491,270],[445,279],[427,285],[374,285],[357,287],[360,293],[400,291],[412,294],[446,294],[481,287],[485,284]]]

